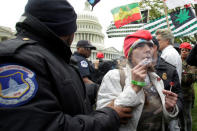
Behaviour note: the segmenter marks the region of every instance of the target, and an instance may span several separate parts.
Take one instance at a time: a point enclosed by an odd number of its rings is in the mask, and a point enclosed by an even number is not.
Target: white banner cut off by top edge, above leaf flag
[[[164,0],[164,1],[169,9],[174,9],[176,7],[184,6],[186,4],[191,4],[194,3],[194,1],[197,3],[197,0]]]

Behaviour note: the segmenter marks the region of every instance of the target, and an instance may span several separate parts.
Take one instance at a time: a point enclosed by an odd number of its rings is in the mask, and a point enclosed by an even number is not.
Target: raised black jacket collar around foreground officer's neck
[[[24,14],[24,16],[26,18],[16,24],[17,34],[28,36],[38,41],[39,44],[55,52],[55,54],[59,54],[60,57],[64,58],[66,63],[69,63],[72,55],[70,47],[37,18],[30,14]]]

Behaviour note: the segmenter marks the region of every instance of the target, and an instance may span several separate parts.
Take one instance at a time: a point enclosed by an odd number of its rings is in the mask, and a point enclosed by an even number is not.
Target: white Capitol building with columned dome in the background
[[[105,48],[104,38],[102,26],[97,16],[91,11],[89,3],[85,2],[84,10],[77,13],[77,31],[75,32],[75,37],[71,46],[72,52],[76,51],[76,44],[79,40],[88,40],[97,48],[97,50],[92,50],[91,57],[89,58],[90,60],[96,59],[97,52],[103,52],[105,59],[120,57],[121,53],[115,48]]]

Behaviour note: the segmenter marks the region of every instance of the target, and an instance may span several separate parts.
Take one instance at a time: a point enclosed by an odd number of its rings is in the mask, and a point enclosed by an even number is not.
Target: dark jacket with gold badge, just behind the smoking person
[[[163,80],[164,88],[166,90],[170,90],[170,82],[174,82],[172,92],[178,95],[177,106],[179,108],[179,111],[181,111],[183,108],[183,94],[176,68],[159,56],[155,69],[156,73]]]

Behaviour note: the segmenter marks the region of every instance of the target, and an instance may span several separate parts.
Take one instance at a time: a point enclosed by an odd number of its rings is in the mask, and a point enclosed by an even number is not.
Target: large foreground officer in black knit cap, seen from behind
[[[91,111],[69,64],[76,17],[66,0],[28,0],[17,38],[0,43],[0,131],[118,131],[130,118],[113,104]]]

